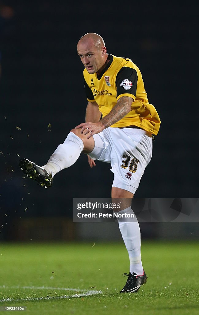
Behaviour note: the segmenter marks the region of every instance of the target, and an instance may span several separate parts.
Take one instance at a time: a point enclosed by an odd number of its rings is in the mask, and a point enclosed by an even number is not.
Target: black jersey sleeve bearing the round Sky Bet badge
[[[117,97],[121,94],[132,94],[136,96],[137,91],[137,71],[129,67],[122,67],[116,76]],[[132,83],[131,88],[124,89],[122,85],[131,83],[125,83],[124,80],[129,80]]]

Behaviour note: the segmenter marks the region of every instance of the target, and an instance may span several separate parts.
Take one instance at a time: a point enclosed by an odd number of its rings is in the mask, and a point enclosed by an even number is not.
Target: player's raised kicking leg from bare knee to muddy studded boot
[[[51,187],[53,176],[73,165],[81,152],[89,153],[94,148],[93,137],[87,139],[87,135],[80,129],[72,129],[63,144],[60,144],[44,166],[36,165],[25,158],[19,161],[22,172],[30,179],[36,180],[43,187]]]

